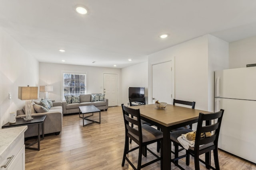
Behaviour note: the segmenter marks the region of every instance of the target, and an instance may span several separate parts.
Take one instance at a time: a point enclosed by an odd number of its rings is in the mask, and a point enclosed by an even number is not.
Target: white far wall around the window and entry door
[[[88,94],[102,93],[103,89],[103,73],[118,74],[118,105],[121,104],[121,69],[120,68],[104,68],[92,66],[78,66],[70,64],[53,64],[39,63],[39,85],[53,86],[53,92],[49,92],[49,98],[55,101],[62,101],[62,78],[64,72],[69,73],[86,73]],[[39,96],[44,98],[44,93],[40,92]]]

